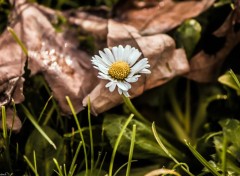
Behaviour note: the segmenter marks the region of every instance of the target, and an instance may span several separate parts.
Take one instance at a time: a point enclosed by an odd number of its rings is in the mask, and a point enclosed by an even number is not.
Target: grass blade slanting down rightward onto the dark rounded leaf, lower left
[[[23,112],[25,113],[26,117],[30,120],[30,122],[33,124],[33,126],[38,130],[38,132],[53,146],[54,149],[57,149],[54,142],[48,137],[48,135],[43,131],[43,129],[39,126],[37,121],[34,119],[34,117],[31,115],[31,113],[28,111],[28,109],[21,104],[21,108]]]

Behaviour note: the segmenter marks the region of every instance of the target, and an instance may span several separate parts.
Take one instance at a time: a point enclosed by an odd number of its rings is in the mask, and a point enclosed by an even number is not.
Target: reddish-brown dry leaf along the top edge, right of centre
[[[116,7],[116,18],[122,23],[136,27],[142,35],[158,34],[175,28],[186,19],[198,16],[212,6],[214,1],[162,0],[150,7],[146,6],[147,3],[143,6],[141,5],[143,2],[134,1],[134,7],[126,8],[125,4]],[[138,5],[139,3],[140,5]],[[153,3],[151,2],[151,4]]]

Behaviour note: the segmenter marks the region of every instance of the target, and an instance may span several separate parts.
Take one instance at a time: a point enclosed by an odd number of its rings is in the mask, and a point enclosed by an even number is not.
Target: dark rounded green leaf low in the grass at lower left
[[[63,163],[63,138],[48,126],[43,126],[42,130],[54,141],[57,145],[57,150],[35,129],[27,140],[25,155],[31,163],[34,163],[33,151],[35,151],[39,175],[50,176],[55,167],[53,158],[56,158],[59,163]]]

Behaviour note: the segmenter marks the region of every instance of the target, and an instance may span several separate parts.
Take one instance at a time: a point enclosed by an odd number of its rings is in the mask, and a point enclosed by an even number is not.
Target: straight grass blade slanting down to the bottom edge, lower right
[[[192,146],[189,142],[185,141],[185,143],[186,143],[186,145],[188,146],[189,150],[192,152],[192,154],[198,159],[198,161],[199,161],[203,166],[205,166],[206,168],[208,168],[208,170],[209,170],[213,175],[215,175],[215,176],[221,176],[221,174],[218,173],[217,170],[216,170],[212,165],[210,165],[209,162],[208,162],[207,160],[205,160],[205,158],[203,158],[203,156],[202,156],[200,153],[198,153],[198,151],[195,150],[195,149],[193,148],[193,146]]]

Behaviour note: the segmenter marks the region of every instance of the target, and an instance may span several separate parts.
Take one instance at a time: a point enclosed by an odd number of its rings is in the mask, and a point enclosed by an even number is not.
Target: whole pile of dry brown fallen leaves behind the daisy
[[[70,97],[77,112],[86,106],[87,97],[90,96],[92,113],[95,115],[122,102],[117,92],[110,93],[105,88],[105,81],[97,78],[97,72],[91,65],[91,56],[77,48],[77,34],[71,29],[56,32],[52,23],[59,15],[64,16],[69,25],[77,26],[82,34],[92,35],[99,49],[129,44],[149,59],[152,73],[142,76],[133,84],[130,91],[133,98],[175,76],[188,73],[190,69],[188,76],[195,79],[193,75],[196,70],[204,67],[197,64],[202,61],[195,57],[208,59],[208,56],[198,54],[200,56],[195,56],[189,67],[184,50],[176,49],[175,41],[163,33],[199,15],[213,3],[214,0],[120,0],[114,7],[117,10],[113,10],[115,13],[112,17],[106,18],[107,15],[104,17],[84,9],[59,12],[16,0],[9,26],[28,49],[28,58],[11,34],[4,31],[0,36],[0,105],[8,109],[9,125],[12,119],[11,100],[14,99],[15,103],[24,100],[26,59],[31,76],[44,76],[64,113],[70,113],[65,96]],[[21,128],[21,121],[17,119],[15,130]]]

